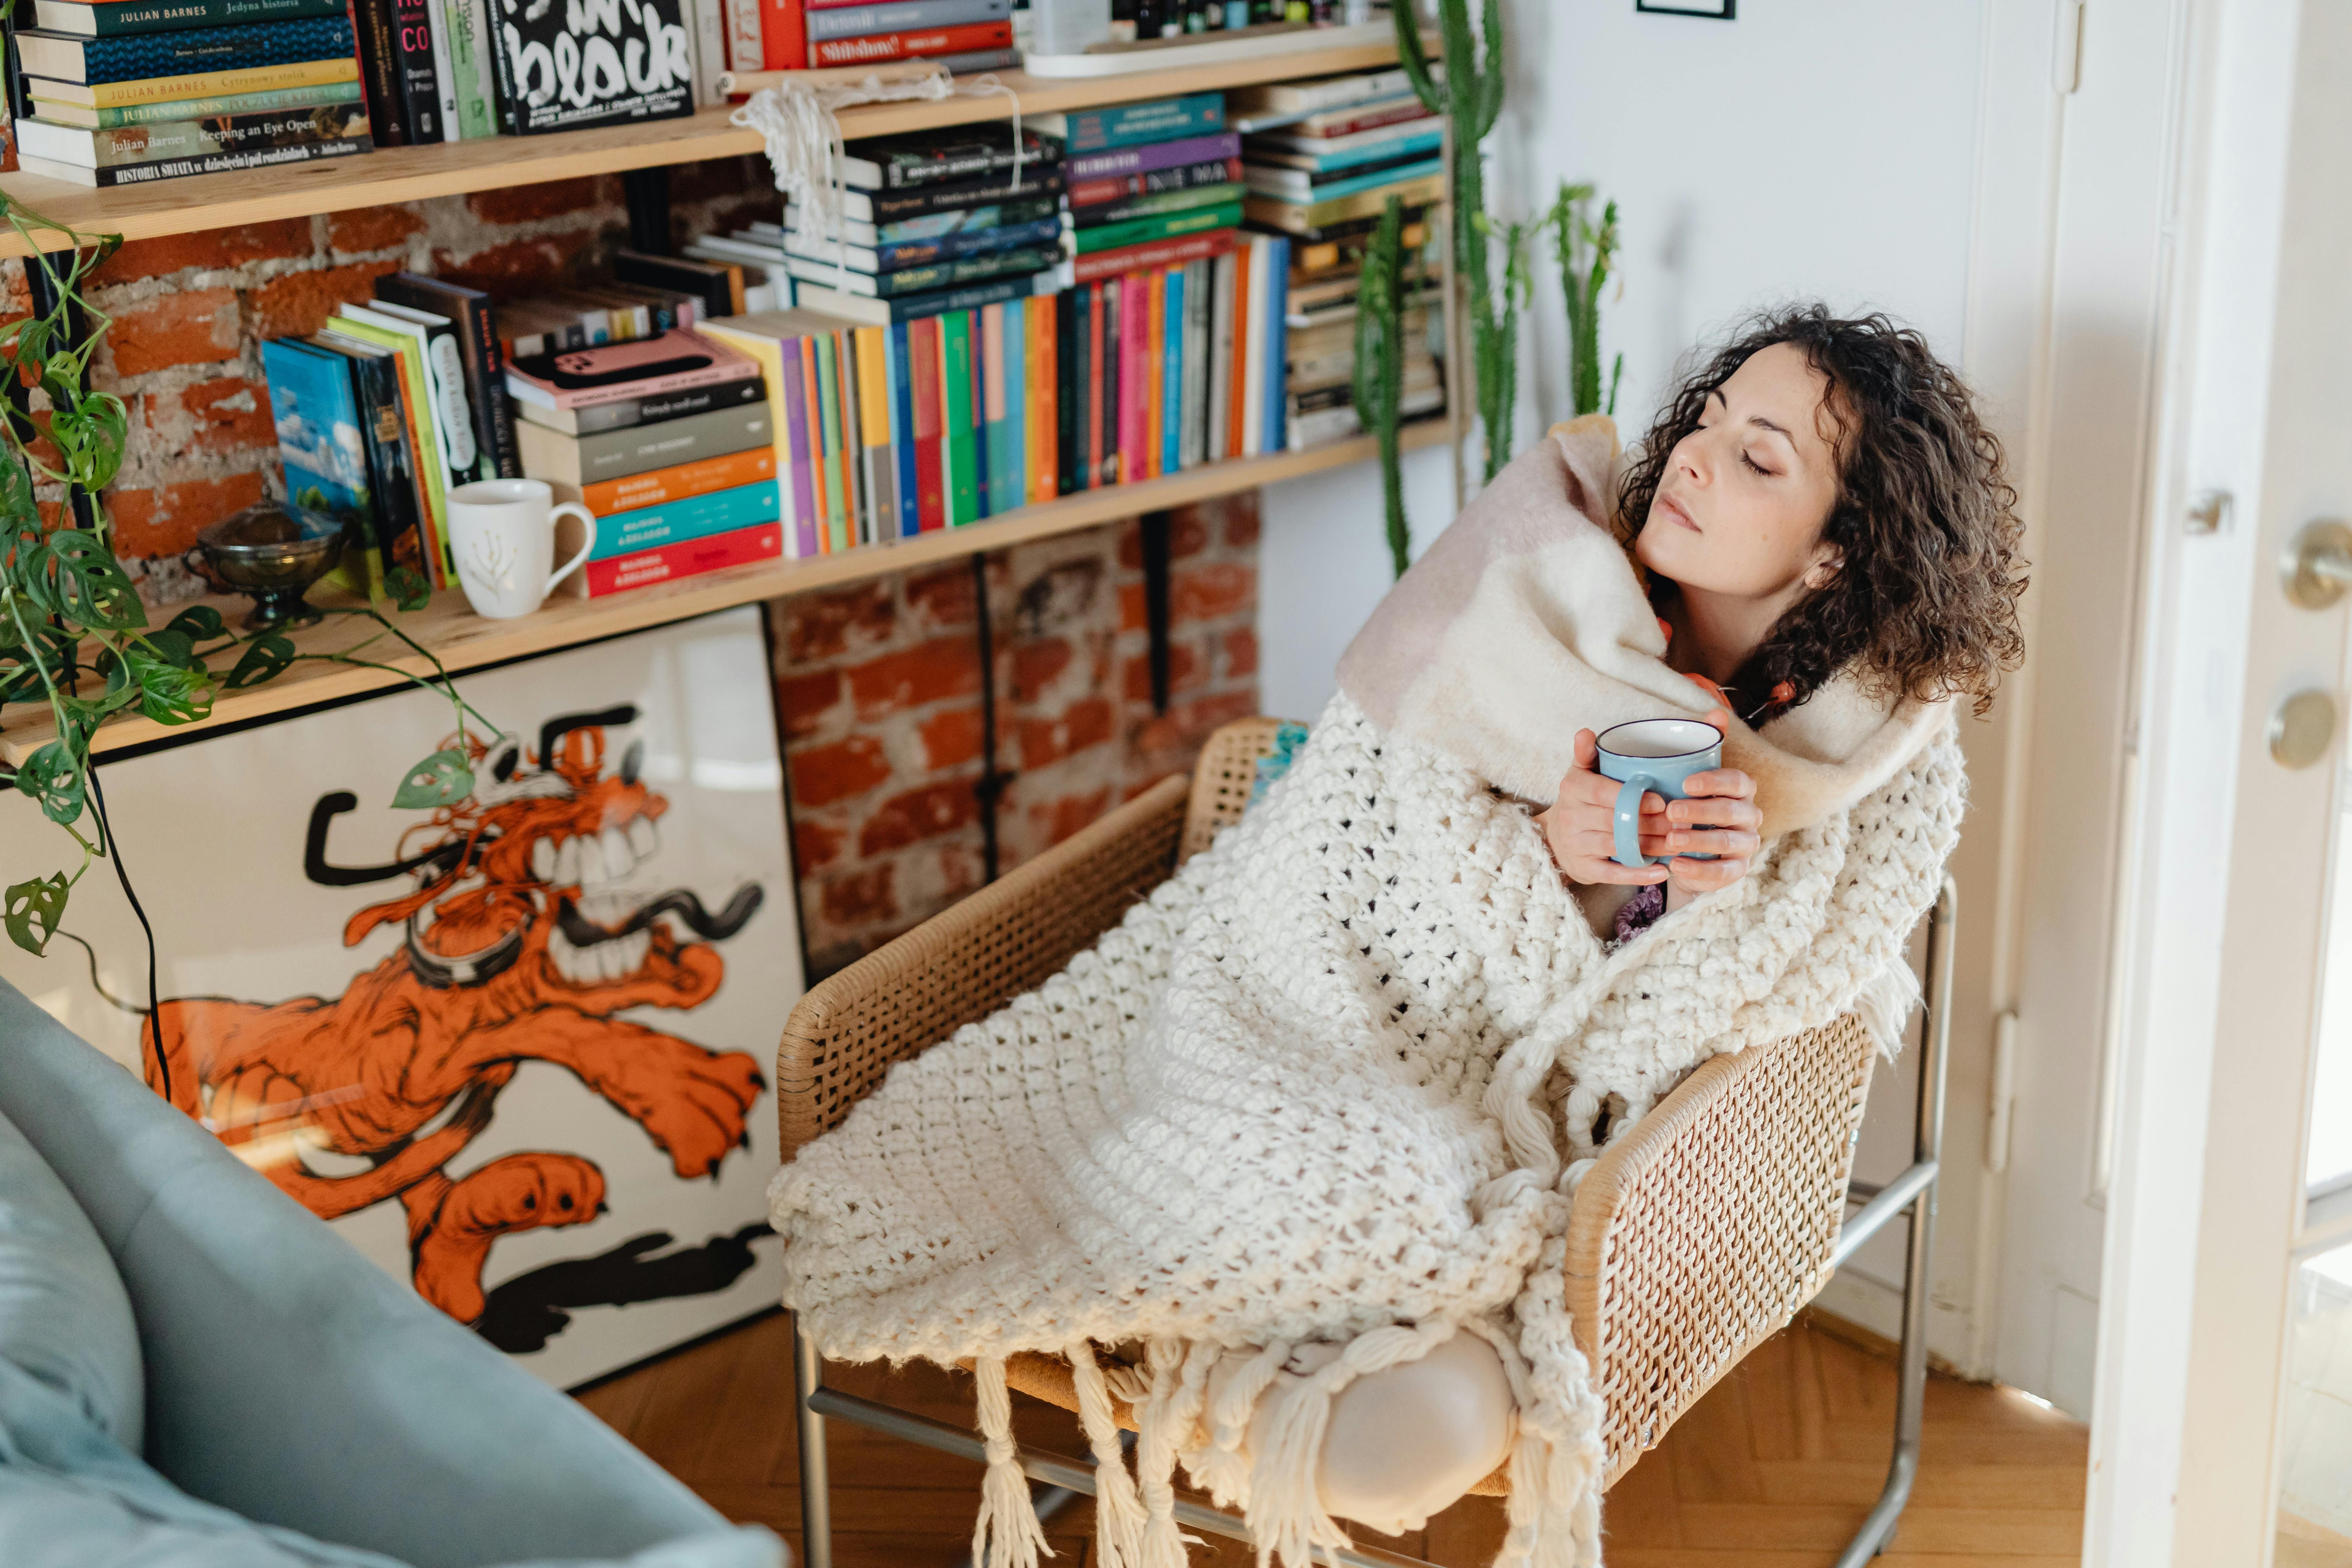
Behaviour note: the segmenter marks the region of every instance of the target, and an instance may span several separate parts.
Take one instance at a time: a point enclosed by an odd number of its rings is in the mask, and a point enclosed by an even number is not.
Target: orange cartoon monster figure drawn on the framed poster
[[[303,870],[325,886],[414,877],[409,893],[343,926],[350,947],[397,922],[400,952],[341,997],[176,997],[146,1023],[148,1079],[160,1037],[174,1103],[313,1213],[334,1220],[397,1199],[416,1291],[461,1324],[485,1314],[482,1269],[499,1237],[581,1225],[604,1208],[604,1173],[579,1154],[515,1152],[452,1173],[522,1063],[576,1074],[684,1180],[715,1178],[729,1150],[748,1147],[746,1114],[767,1086],[743,1051],[706,1051],[616,1016],[708,1001],[724,973],[713,943],[760,907],[757,884],[717,914],[684,889],[626,891],[659,853],[668,811],[640,778],[642,743],[604,771],[607,729],[635,717],[612,708],[550,719],[536,757],[517,736],[468,738],[473,795],[402,835],[388,865],[329,863],[334,818],[358,797],[320,797]]]

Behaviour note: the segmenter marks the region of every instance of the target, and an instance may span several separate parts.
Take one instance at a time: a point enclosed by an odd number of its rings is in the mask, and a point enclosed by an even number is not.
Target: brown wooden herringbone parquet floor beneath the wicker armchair
[[[837,1387],[964,1425],[964,1378],[936,1368],[830,1368]],[[1835,1321],[1799,1319],[1724,1378],[1611,1488],[1611,1568],[1828,1568],[1886,1479],[1893,1363]],[[769,1316],[581,1394],[715,1509],[800,1544],[790,1326]],[[1021,1439],[1082,1455],[1077,1420],[1016,1399]],[[971,1544],[981,1467],[844,1422],[830,1429],[840,1568],[950,1568]],[[2082,1561],[2089,1434],[1997,1387],[1931,1378],[1919,1483],[1886,1568],[2072,1568]],[[1058,1568],[1089,1568],[1091,1505],[1047,1535]],[[1501,1502],[1465,1497],[1411,1537],[1359,1544],[1484,1568]],[[1249,1568],[1249,1549],[1192,1549],[1195,1568]]]

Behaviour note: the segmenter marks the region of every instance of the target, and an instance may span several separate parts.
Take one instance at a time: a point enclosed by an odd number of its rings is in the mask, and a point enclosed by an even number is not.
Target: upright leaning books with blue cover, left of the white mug
[[[266,341],[261,367],[287,498],[360,524],[365,588],[386,567],[454,583],[449,489],[522,473],[489,296],[393,273],[325,331]]]

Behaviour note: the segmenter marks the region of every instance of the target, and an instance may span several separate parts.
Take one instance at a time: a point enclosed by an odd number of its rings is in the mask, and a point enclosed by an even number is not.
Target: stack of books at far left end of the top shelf
[[[33,0],[12,82],[24,169],[134,186],[374,141],[343,0]]]

